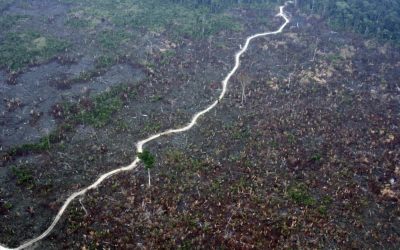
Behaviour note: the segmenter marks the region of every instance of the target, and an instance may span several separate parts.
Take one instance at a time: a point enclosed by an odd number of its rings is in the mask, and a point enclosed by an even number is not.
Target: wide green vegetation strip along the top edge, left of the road
[[[154,32],[168,30],[173,36],[190,38],[203,38],[222,30],[241,29],[241,25],[230,15],[214,13],[211,8],[203,5],[194,7],[191,3],[162,0],[85,0],[79,5],[71,11],[67,22],[78,28],[94,28],[106,21],[114,25],[112,30],[115,32],[137,29]],[[105,41],[114,42],[109,39]]]

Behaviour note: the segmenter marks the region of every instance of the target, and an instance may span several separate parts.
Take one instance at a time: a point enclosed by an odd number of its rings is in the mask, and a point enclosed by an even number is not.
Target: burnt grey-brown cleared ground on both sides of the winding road
[[[136,141],[211,103],[245,37],[282,22],[276,9],[233,9],[241,29],[209,39],[146,33],[104,67],[96,58],[108,51],[68,33],[70,1],[21,4],[3,12],[34,17],[47,6],[43,30],[77,49],[1,71],[8,246],[43,232],[68,194],[131,162]],[[156,156],[151,187],[143,168],[110,178],[74,201],[37,247],[398,248],[399,50],[288,12],[283,34],[251,44],[215,111],[147,146]],[[55,139],[43,137],[54,130]],[[10,151],[40,138],[45,150]]]

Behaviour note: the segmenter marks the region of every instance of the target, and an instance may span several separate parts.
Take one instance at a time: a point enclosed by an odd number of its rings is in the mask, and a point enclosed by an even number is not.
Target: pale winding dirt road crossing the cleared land
[[[221,94],[219,95],[219,97],[218,97],[218,99],[217,99],[216,101],[214,101],[214,102],[213,102],[211,105],[209,105],[207,108],[205,108],[205,109],[199,111],[198,113],[196,113],[196,114],[192,117],[191,121],[190,121],[186,126],[181,127],[181,128],[176,128],[176,129],[169,129],[169,130],[167,130],[167,131],[164,131],[164,132],[161,132],[161,133],[152,135],[152,136],[150,136],[150,137],[148,137],[148,138],[146,138],[146,139],[144,139],[144,140],[139,141],[139,142],[136,144],[136,150],[137,150],[137,152],[138,152],[138,153],[143,152],[143,146],[144,146],[146,143],[148,143],[148,142],[150,142],[150,141],[153,141],[153,140],[155,140],[155,139],[157,139],[157,138],[159,138],[159,137],[161,137],[161,136],[170,135],[170,134],[176,134],[176,133],[182,133],[182,132],[185,132],[185,131],[190,130],[194,125],[196,125],[197,120],[198,120],[201,116],[205,115],[206,113],[208,113],[209,111],[211,111],[212,109],[214,109],[215,106],[218,105],[219,101],[222,100],[222,99],[224,98],[224,96],[225,96],[225,94],[226,94],[226,91],[227,91],[227,88],[228,88],[229,80],[231,79],[231,77],[235,74],[235,72],[236,72],[237,69],[239,68],[239,66],[240,66],[240,57],[241,57],[241,55],[242,55],[243,53],[246,52],[246,50],[247,50],[248,47],[249,47],[250,42],[251,42],[253,39],[258,38],[258,37],[279,34],[279,33],[281,33],[281,32],[283,31],[283,29],[286,27],[286,25],[289,24],[290,19],[289,19],[289,17],[285,14],[285,12],[284,12],[284,8],[285,8],[289,3],[292,3],[292,2],[291,2],[291,1],[286,2],[285,5],[282,5],[282,6],[279,7],[279,13],[277,14],[277,16],[282,17],[282,18],[285,20],[285,22],[280,26],[280,28],[279,28],[278,30],[276,30],[276,31],[271,31],[271,32],[265,32],[265,33],[258,33],[258,34],[252,35],[252,36],[250,36],[250,37],[247,37],[244,46],[243,46],[242,49],[241,49],[240,51],[238,51],[238,52],[236,53],[236,55],[235,55],[235,66],[232,68],[232,70],[227,74],[227,76],[225,77],[225,79],[222,81],[222,92],[221,92]],[[64,212],[65,212],[65,210],[67,209],[67,207],[70,205],[70,203],[71,203],[75,198],[77,198],[78,196],[84,195],[87,191],[89,191],[89,190],[91,190],[91,189],[97,188],[105,179],[107,179],[107,178],[109,178],[109,177],[111,177],[111,176],[113,176],[113,175],[116,175],[116,174],[121,173],[121,172],[130,171],[130,170],[135,169],[136,167],[138,167],[139,162],[140,162],[139,158],[136,157],[136,159],[135,159],[131,164],[129,164],[128,166],[121,167],[121,168],[112,170],[112,171],[110,171],[110,172],[108,172],[108,173],[105,173],[105,174],[101,175],[101,176],[96,180],[96,182],[94,182],[94,183],[91,184],[90,186],[88,186],[88,187],[86,187],[86,188],[84,188],[84,189],[82,189],[82,190],[80,190],[80,191],[77,191],[77,192],[71,194],[71,195],[68,197],[68,199],[64,202],[64,204],[63,204],[63,206],[60,208],[60,210],[58,211],[58,213],[57,213],[56,217],[53,219],[53,222],[51,223],[51,225],[50,225],[50,226],[46,229],[46,231],[44,231],[41,235],[39,235],[38,237],[36,237],[36,238],[34,238],[34,239],[31,239],[31,240],[29,240],[29,241],[27,241],[27,242],[21,244],[19,247],[16,247],[16,248],[7,248],[7,247],[5,247],[5,246],[0,245],[0,250],[24,249],[24,248],[27,248],[27,247],[33,245],[34,243],[36,243],[36,242],[42,240],[43,238],[45,238],[47,235],[49,235],[49,234],[53,231],[54,227],[55,227],[55,226],[57,225],[57,223],[59,222],[61,216],[64,214]]]

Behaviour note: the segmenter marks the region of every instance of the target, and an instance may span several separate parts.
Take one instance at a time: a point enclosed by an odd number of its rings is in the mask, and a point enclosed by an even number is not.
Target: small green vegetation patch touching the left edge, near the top
[[[65,41],[36,32],[8,33],[0,41],[0,67],[18,72],[29,64],[53,58],[67,47]]]

